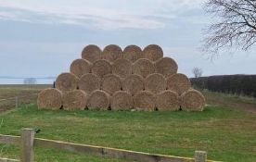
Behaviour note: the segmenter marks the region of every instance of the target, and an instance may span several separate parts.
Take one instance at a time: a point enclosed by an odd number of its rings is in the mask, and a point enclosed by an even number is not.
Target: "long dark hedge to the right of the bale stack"
[[[222,75],[190,79],[198,89],[256,97],[256,75]]]

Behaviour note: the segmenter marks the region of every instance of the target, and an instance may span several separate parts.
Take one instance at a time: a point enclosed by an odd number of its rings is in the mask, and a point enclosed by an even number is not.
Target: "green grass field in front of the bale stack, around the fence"
[[[172,156],[205,150],[213,160],[256,161],[256,115],[222,106],[206,106],[203,112],[68,112],[30,105],[0,115],[0,133],[19,135],[24,127],[40,128],[36,137],[65,142]],[[18,151],[0,145],[0,156],[18,158]],[[36,149],[36,160],[122,161],[45,149]]]

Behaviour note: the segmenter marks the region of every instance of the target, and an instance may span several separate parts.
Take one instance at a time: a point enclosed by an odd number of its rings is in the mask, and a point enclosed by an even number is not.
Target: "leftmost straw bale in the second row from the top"
[[[77,77],[82,77],[83,74],[90,73],[91,63],[86,59],[76,59],[70,65],[70,72]]]

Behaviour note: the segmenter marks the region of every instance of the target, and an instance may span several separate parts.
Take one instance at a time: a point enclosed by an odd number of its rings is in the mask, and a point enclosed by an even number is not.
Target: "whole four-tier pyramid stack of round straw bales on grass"
[[[82,58],[61,73],[56,88],[38,96],[38,107],[65,110],[202,111],[204,96],[191,88],[178,65],[159,45],[142,50],[110,44],[83,48]]]

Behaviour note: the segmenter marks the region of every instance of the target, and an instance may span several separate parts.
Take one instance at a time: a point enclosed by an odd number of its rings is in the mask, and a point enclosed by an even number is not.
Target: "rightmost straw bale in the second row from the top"
[[[177,73],[178,65],[173,58],[163,57],[155,63],[156,71],[164,77],[169,77]]]

